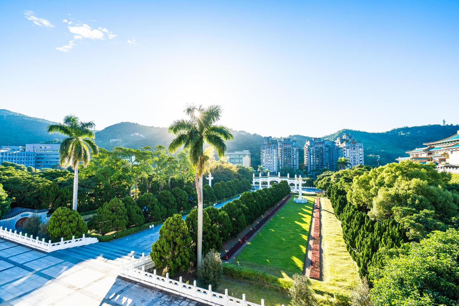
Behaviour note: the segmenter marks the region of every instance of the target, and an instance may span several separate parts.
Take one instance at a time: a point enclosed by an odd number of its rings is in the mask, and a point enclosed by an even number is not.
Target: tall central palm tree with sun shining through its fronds
[[[191,164],[196,167],[195,184],[198,196],[198,237],[197,237],[197,265],[201,265],[202,256],[202,174],[209,156],[205,154],[203,145],[211,145],[218,156],[224,156],[226,151],[225,140],[233,139],[228,128],[215,123],[220,119],[221,107],[217,105],[203,108],[202,106],[188,106],[185,114],[188,120],[176,120],[168,128],[168,132],[176,135],[169,145],[169,151],[175,152],[182,145],[189,149]]]

